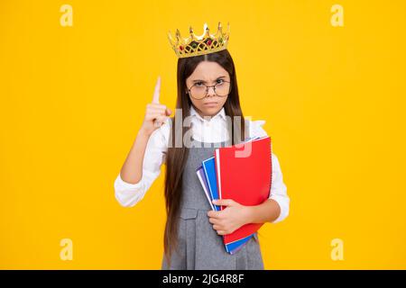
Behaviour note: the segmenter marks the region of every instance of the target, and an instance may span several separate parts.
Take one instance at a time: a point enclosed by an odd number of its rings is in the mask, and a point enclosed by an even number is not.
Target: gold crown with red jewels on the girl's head
[[[189,37],[181,38],[179,29],[176,30],[176,40],[168,33],[171,46],[179,58],[186,58],[198,55],[209,54],[227,48],[228,37],[230,35],[230,23],[227,23],[227,31],[223,33],[221,23],[218,23],[216,34],[210,34],[208,24],[204,25],[204,33],[201,36],[195,35],[193,29],[189,27]]]

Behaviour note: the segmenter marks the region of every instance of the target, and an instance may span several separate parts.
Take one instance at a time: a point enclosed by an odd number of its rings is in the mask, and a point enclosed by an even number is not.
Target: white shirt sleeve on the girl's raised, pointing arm
[[[115,178],[115,199],[124,207],[133,207],[143,199],[152,183],[161,173],[161,165],[166,160],[171,119],[154,130],[148,139],[143,157],[143,176],[136,184],[125,182],[120,173]]]

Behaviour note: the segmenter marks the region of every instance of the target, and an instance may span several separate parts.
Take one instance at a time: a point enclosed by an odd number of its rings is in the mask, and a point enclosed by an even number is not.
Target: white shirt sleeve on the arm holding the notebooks
[[[263,137],[268,136],[268,133],[263,130],[265,121],[252,121],[250,125],[250,137]],[[287,193],[286,184],[283,182],[283,175],[281,173],[281,165],[278,157],[272,153],[272,185],[269,199],[277,202],[281,208],[281,213],[276,220],[272,223],[280,222],[289,215],[291,199]]]

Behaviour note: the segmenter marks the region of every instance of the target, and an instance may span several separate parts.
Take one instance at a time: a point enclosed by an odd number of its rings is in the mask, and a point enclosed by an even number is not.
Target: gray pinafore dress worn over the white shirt
[[[178,248],[171,254],[171,266],[162,257],[162,270],[263,270],[263,257],[257,233],[234,255],[226,252],[223,237],[208,221],[211,207],[196,175],[196,169],[215,148],[226,146],[226,141],[204,143],[192,140],[182,177],[183,195],[180,204]]]

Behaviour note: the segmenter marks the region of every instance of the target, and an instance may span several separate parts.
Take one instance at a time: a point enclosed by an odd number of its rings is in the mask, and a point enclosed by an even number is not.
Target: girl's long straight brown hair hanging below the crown
[[[184,122],[185,118],[190,115],[189,106],[192,104],[189,99],[189,94],[186,93],[186,79],[193,73],[195,68],[201,61],[212,61],[217,62],[221,67],[226,69],[230,76],[231,90],[228,94],[226,103],[224,104],[224,109],[227,116],[231,118],[231,131],[229,131],[232,144],[240,142],[241,139],[235,139],[235,134],[241,131],[245,139],[245,119],[243,112],[240,107],[240,99],[238,95],[238,87],[235,74],[235,65],[233,58],[231,58],[230,53],[225,49],[222,51],[200,55],[190,58],[179,58],[178,60],[178,98],[176,102],[176,108],[181,109],[181,123]],[[235,127],[234,116],[240,116],[241,121],[237,123]],[[171,252],[177,247],[177,232],[178,223],[180,216],[180,202],[182,196],[182,175],[186,164],[186,160],[189,155],[189,148],[183,145],[183,137],[185,132],[189,129],[180,125],[181,127],[176,127],[177,114],[173,117],[171,123],[171,137],[170,137],[170,147],[168,148],[166,156],[166,175],[165,175],[165,204],[167,221],[165,226],[163,247],[165,252],[165,257],[171,265]],[[180,121],[180,120],[178,120]],[[178,129],[178,130],[175,130]],[[181,134],[179,134],[181,133]],[[174,143],[175,135],[181,135],[182,145],[181,147],[176,147]]]

